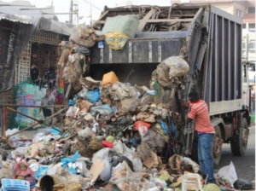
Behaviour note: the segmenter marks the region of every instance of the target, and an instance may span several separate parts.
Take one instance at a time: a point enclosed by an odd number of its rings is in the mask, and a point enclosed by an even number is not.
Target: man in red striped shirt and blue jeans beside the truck
[[[202,101],[197,91],[189,93],[190,112],[188,121],[195,119],[195,130],[198,132],[198,161],[207,183],[215,183],[213,177],[212,144],[215,130],[210,122],[206,101]],[[208,177],[207,177],[208,176]]]

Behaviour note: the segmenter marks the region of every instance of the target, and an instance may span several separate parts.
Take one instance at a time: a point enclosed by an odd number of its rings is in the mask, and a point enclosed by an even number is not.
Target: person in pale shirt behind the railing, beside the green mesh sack
[[[55,96],[51,94],[51,90],[46,90],[46,95],[43,97],[41,101],[41,106],[43,107],[43,113],[44,118],[47,118],[51,116],[54,113],[54,107],[48,107],[48,106],[54,106],[55,105]],[[47,121],[46,123],[51,124],[51,119]]]

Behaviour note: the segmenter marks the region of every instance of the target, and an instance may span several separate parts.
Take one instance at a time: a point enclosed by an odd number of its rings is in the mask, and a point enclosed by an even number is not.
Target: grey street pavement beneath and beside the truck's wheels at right
[[[236,167],[238,178],[254,181],[255,180],[255,124],[249,127],[250,135],[247,144],[247,153],[241,157],[233,156],[230,144],[223,144],[222,155],[218,169],[224,165],[230,165],[232,161]],[[216,171],[217,172],[217,171]]]

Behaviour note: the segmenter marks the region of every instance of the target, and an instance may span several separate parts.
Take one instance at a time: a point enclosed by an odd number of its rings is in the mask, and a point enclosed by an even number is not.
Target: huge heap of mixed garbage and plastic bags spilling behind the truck
[[[101,81],[83,77],[90,47],[103,38],[93,29],[79,28],[70,42],[61,44],[62,78],[73,86],[64,128],[38,130],[32,142],[24,136],[9,137],[0,150],[3,190],[156,191],[204,186],[200,166],[172,152],[181,119],[161,103],[169,79],[178,84],[178,78],[189,72],[186,61],[171,57],[160,63],[150,89],[119,82],[114,72]],[[218,186],[232,190],[236,174],[230,179],[223,174],[218,175]],[[220,190],[218,186],[204,189]]]

